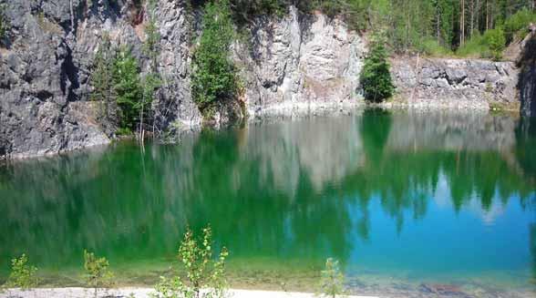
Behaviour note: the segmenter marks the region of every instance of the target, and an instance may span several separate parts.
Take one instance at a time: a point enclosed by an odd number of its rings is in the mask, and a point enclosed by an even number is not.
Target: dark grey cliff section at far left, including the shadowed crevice
[[[66,35],[69,2],[0,3],[14,36],[0,48],[0,159],[108,143],[93,105],[77,101],[83,76]]]

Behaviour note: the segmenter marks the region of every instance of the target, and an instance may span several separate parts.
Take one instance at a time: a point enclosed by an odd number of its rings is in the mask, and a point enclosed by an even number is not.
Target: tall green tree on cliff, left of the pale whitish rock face
[[[237,97],[237,70],[230,59],[233,32],[229,1],[208,3],[191,75],[192,97],[208,117],[219,104]]]

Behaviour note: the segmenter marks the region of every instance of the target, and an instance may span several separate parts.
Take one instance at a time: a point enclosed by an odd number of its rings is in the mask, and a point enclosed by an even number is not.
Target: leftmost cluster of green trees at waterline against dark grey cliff
[[[138,58],[132,55],[128,46],[114,48],[108,34],[104,34],[93,63],[91,85],[92,100],[100,102],[99,119],[107,130],[115,130],[119,121],[119,134],[139,132],[143,137],[148,122],[152,120],[148,107],[161,86],[158,72],[160,54],[160,34],[154,16],[155,0],[147,3],[147,24],[143,54],[149,58],[149,71],[140,76]]]

